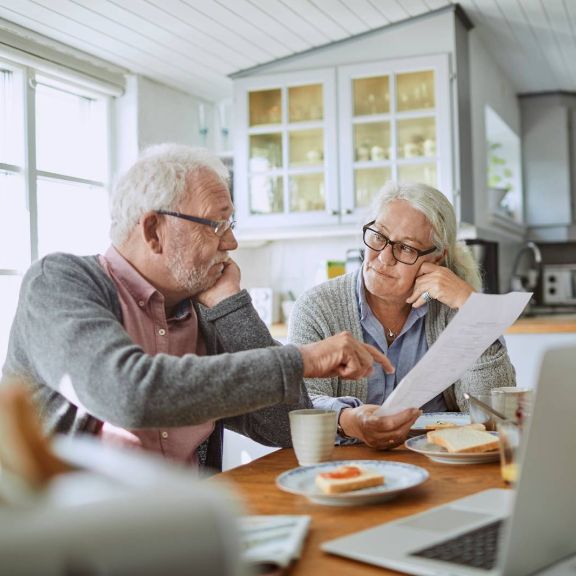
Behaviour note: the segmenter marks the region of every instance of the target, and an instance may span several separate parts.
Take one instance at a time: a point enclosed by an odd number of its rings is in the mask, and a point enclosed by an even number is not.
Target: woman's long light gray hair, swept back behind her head
[[[404,200],[422,212],[432,226],[430,242],[445,251],[444,264],[475,290],[482,289],[482,278],[476,260],[468,247],[456,238],[456,214],[448,198],[436,188],[419,182],[387,182],[372,204],[377,217],[395,200]]]

